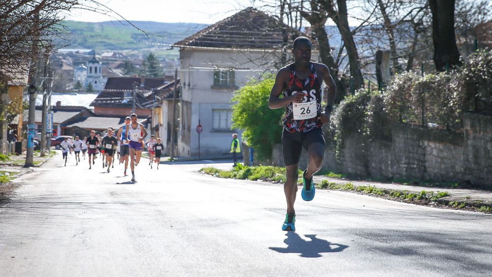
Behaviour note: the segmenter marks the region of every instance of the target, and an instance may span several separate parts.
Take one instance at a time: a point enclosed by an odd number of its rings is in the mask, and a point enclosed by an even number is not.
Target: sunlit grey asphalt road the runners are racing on
[[[0,203],[0,276],[492,275],[489,214],[318,190],[283,232],[280,185],[144,159],[132,183],[97,162],[55,156],[17,181]]]

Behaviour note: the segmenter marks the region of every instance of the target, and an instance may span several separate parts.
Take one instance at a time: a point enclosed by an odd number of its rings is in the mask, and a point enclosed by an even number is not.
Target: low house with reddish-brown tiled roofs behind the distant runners
[[[139,117],[144,118],[151,113],[145,103],[152,95],[152,90],[159,89],[172,80],[172,77],[109,77],[103,91],[90,106],[94,107],[94,113],[98,115],[128,116],[132,111],[133,93],[136,89],[135,110]]]

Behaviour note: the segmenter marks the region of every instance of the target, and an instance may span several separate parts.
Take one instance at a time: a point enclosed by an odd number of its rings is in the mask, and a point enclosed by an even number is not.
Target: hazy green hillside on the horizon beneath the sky
[[[193,35],[205,24],[198,23],[161,23],[152,21],[133,21],[133,24],[146,32],[153,33],[147,37],[144,33],[127,22],[80,22],[64,21],[68,30],[67,48],[86,48],[101,50],[139,50],[142,52],[162,49],[166,46],[157,46],[151,43],[172,44]],[[165,51],[169,53],[169,51]]]

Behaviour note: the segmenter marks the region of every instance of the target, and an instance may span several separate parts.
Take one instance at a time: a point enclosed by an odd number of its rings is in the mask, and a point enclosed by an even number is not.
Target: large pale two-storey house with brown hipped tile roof
[[[297,29],[253,8],[175,43],[181,64],[177,156],[229,155],[233,92],[292,60]],[[287,49],[287,51],[285,51]],[[314,56],[314,55],[313,55]],[[201,124],[200,135],[196,127]]]

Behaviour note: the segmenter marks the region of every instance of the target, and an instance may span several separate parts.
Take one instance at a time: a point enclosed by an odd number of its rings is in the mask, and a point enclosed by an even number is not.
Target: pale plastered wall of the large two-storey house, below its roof
[[[235,88],[212,88],[214,68],[234,68],[235,85],[242,87],[252,78],[261,78],[264,73],[276,73],[281,67],[278,64],[280,55],[280,52],[247,53],[182,48],[180,51],[180,78],[183,85],[181,100],[192,102],[192,118],[190,145],[178,136],[179,156],[198,156],[196,126],[199,119],[203,126],[203,132],[200,135],[202,157],[229,155],[231,135],[237,133],[239,139],[242,139],[241,130],[212,131],[212,109],[231,109],[230,102],[235,90]],[[185,132],[182,126],[179,132]]]

